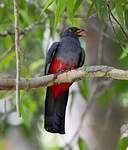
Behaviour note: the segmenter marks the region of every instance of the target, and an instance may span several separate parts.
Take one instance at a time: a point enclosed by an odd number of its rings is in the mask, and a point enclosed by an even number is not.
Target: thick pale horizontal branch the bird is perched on
[[[19,89],[47,87],[60,83],[72,83],[84,77],[107,77],[117,80],[128,80],[128,70],[116,69],[109,66],[81,67],[60,74],[51,74],[35,78],[20,78]],[[0,90],[14,90],[16,80],[0,77]]]

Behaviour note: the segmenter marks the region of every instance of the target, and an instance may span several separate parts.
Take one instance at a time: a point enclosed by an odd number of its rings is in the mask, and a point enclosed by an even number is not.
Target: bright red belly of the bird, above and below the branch
[[[66,64],[60,59],[54,59],[50,65],[49,73],[54,74],[62,71],[66,71],[68,69],[73,69],[76,68],[76,65],[71,65],[71,64]],[[63,92],[68,90],[70,87],[71,83],[62,83],[59,85],[53,85],[51,86],[52,94],[54,97],[60,96]]]

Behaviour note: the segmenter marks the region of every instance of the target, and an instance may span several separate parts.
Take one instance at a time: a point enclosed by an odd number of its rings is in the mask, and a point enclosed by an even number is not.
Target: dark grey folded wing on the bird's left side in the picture
[[[52,46],[50,47],[50,49],[47,52],[46,62],[45,62],[45,70],[44,70],[45,75],[48,74],[51,61],[52,61],[52,59],[53,59],[53,57],[54,57],[54,55],[57,51],[58,46],[59,46],[59,42],[53,43]]]

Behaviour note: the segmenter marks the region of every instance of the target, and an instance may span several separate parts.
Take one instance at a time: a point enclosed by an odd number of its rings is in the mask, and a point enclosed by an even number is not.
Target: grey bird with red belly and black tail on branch
[[[45,75],[76,69],[84,64],[85,52],[79,37],[86,31],[78,27],[64,30],[60,40],[49,48],[45,61]],[[65,112],[72,83],[52,85],[46,89],[44,128],[51,133],[65,134]]]

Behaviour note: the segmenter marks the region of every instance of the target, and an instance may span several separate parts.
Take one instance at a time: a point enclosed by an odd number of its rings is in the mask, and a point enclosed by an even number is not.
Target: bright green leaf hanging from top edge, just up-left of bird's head
[[[60,17],[65,8],[65,0],[56,0],[56,15],[55,15],[55,26],[58,24]]]

